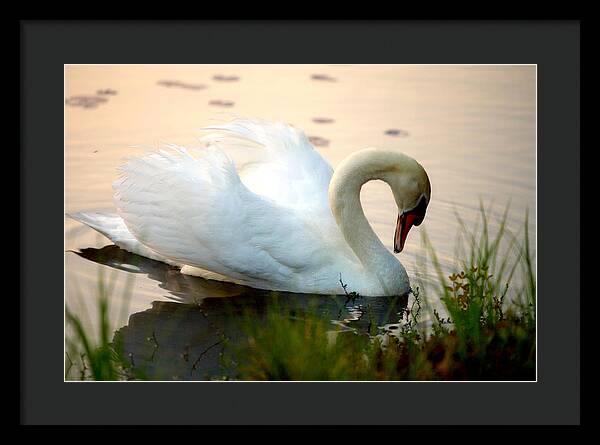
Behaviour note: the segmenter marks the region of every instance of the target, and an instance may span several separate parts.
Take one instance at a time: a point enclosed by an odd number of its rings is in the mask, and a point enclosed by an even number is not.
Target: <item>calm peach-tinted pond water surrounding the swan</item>
[[[473,226],[480,199],[493,202],[496,213],[510,202],[508,228],[514,232],[529,209],[535,244],[535,91],[534,66],[67,66],[65,210],[114,211],[111,184],[126,156],[163,142],[197,145],[200,127],[232,113],[284,120],[304,129],[334,168],[365,147],[396,149],[417,159],[428,172],[432,199],[425,222],[412,229],[398,258],[414,277],[425,229],[450,271],[459,229],[454,212]],[[391,191],[371,182],[361,198],[375,232],[392,250]],[[269,293],[182,276],[109,245],[91,229],[65,220],[66,303],[88,313],[94,325],[99,268],[112,277],[115,329],[134,357],[153,363],[156,378],[210,375],[218,335],[238,335],[231,307],[239,312],[270,304]],[[128,277],[135,277],[134,292],[123,306]],[[297,305],[306,301],[303,295],[285,296]],[[319,306],[332,320],[362,329],[365,305],[381,326],[393,327],[410,301],[391,304],[342,296],[323,297]],[[167,332],[169,340],[159,339],[161,347],[155,348],[147,340],[153,332],[163,337]],[[190,357],[201,354],[192,369]]]

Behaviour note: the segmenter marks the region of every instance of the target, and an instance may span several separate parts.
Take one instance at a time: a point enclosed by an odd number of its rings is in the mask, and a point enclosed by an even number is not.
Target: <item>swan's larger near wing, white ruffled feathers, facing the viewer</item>
[[[171,261],[256,287],[318,265],[318,221],[251,191],[218,147],[131,158],[113,187],[128,231]]]

